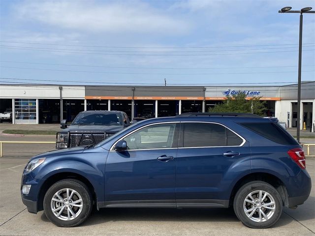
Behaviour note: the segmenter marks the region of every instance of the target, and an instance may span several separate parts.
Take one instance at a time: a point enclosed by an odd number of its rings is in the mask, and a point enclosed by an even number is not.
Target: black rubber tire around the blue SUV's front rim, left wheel
[[[78,192],[82,198],[82,210],[72,220],[59,219],[52,211],[51,201],[55,193],[62,189],[70,188]],[[72,206],[71,206],[72,207]],[[58,227],[75,227],[81,224],[91,214],[93,208],[92,195],[86,184],[76,179],[63,179],[53,184],[46,192],[44,197],[44,212],[47,218]],[[74,209],[74,207],[73,207]]]

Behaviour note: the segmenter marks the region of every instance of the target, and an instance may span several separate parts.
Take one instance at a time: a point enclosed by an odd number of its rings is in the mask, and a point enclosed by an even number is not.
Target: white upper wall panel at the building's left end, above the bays
[[[63,86],[63,99],[84,99],[84,86]],[[59,99],[59,86],[34,85],[34,86],[0,86],[0,98],[39,98]]]

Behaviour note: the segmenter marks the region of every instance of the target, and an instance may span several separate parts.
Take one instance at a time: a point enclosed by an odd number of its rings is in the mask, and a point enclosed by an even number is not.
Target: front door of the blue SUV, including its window
[[[180,123],[149,124],[125,135],[126,151],[110,150],[105,167],[107,207],[176,207]]]

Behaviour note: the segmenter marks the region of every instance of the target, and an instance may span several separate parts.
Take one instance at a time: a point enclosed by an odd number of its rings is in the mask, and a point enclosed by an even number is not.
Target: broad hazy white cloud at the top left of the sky
[[[24,21],[89,32],[185,34],[190,29],[188,22],[138,1],[24,1],[15,9]]]

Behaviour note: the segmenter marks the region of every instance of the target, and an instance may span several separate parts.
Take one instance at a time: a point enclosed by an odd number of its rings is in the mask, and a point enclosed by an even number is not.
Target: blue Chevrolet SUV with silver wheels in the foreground
[[[305,167],[303,149],[274,119],[190,113],[34,156],[21,195],[60,227],[81,224],[93,207],[233,207],[244,225],[268,228],[309,197]]]

